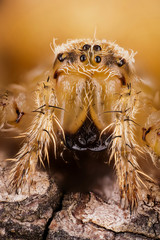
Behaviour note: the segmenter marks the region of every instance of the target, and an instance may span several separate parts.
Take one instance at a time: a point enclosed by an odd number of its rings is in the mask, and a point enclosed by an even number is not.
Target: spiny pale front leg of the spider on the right
[[[140,178],[138,158],[142,149],[136,142],[136,131],[140,125],[136,122],[139,109],[139,92],[128,85],[128,89],[120,95],[114,105],[115,128],[111,140],[111,158],[114,157],[120,198],[124,207],[130,206],[131,211],[138,206]]]

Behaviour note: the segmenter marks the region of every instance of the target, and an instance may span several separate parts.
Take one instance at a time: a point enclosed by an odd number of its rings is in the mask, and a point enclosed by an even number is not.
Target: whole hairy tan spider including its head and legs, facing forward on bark
[[[1,93],[1,128],[11,124],[26,139],[10,172],[12,186],[31,181],[37,161],[49,161],[50,145],[55,157],[59,147],[105,150],[104,161],[114,158],[121,198],[133,209],[140,186],[154,181],[143,166],[159,165],[159,103],[137,77],[133,52],[82,39],[55,46],[54,53],[46,79]]]

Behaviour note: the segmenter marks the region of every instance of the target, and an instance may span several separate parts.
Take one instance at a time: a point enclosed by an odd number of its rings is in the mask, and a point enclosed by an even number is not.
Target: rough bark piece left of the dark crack
[[[5,168],[0,166],[0,239],[46,239],[48,224],[59,209],[62,193],[46,172],[38,172],[22,193],[8,193]]]

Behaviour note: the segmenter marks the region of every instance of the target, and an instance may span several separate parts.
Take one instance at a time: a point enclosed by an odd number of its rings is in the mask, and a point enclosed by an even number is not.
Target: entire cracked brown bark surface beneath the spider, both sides
[[[108,200],[93,192],[64,194],[45,172],[37,171],[30,196],[27,189],[9,194],[3,173],[1,166],[1,240],[160,239],[158,197],[141,203],[130,215],[119,206],[116,186]]]

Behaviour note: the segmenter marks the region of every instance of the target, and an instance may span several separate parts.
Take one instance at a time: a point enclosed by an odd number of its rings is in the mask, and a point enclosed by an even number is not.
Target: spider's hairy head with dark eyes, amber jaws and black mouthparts
[[[70,149],[101,151],[108,146],[105,129],[115,121],[120,95],[130,91],[134,61],[118,45],[99,40],[77,40],[55,49],[53,66],[56,111]],[[110,112],[110,114],[107,114]],[[103,132],[103,135],[101,134]]]

